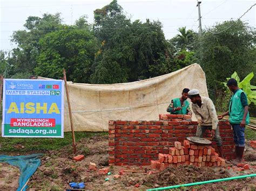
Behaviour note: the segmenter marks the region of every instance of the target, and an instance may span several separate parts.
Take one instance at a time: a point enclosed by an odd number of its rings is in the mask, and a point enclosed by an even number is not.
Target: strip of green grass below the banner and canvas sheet
[[[104,136],[107,132],[75,132],[76,142],[82,138]],[[24,148],[15,145],[24,146]],[[7,138],[0,137],[0,153],[7,152],[44,152],[57,150],[66,145],[72,145],[72,132],[64,132],[64,138]]]

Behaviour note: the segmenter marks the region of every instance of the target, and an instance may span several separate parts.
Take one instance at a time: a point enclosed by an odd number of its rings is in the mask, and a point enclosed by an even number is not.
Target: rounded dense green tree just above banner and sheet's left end
[[[39,40],[41,51],[35,72],[37,75],[59,79],[62,69],[65,68],[68,80],[87,83],[97,40],[89,30],[73,26],[64,28],[65,30],[46,34]]]

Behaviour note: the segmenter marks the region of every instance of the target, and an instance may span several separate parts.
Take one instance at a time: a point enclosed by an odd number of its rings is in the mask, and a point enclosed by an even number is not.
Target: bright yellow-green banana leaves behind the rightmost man
[[[231,75],[231,78],[237,80],[238,87],[240,89],[244,90],[244,92],[246,93],[247,99],[248,99],[248,104],[251,104],[251,102],[256,104],[256,90],[252,90],[252,89],[254,89],[255,86],[251,85],[251,80],[253,79],[253,76],[254,76],[254,74],[253,74],[253,72],[251,72],[244,78],[244,80],[242,80],[240,82],[240,77],[238,76],[237,72],[234,72]],[[230,80],[229,77],[227,78],[227,81],[228,80]],[[225,85],[226,91],[228,91],[227,83],[226,82],[221,82],[221,83],[223,83]]]

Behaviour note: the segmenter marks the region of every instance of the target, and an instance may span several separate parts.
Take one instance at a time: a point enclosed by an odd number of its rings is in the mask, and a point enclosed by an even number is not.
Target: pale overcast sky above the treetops
[[[82,15],[93,22],[93,10],[102,8],[111,0],[0,0],[1,36],[0,49],[8,51],[15,46],[10,42],[13,31],[24,30],[29,16],[42,17],[43,13],[60,12],[63,23],[73,24]],[[202,0],[201,17],[203,29],[217,22],[237,19],[256,1],[252,0]],[[178,27],[198,31],[198,8],[196,0],[118,0],[127,16],[132,20],[146,18],[160,20],[166,39],[174,37]],[[256,27],[256,6],[241,20]]]

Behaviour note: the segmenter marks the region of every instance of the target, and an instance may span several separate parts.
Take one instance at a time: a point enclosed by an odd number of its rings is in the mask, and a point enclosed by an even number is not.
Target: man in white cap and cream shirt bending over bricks
[[[197,117],[197,137],[203,137],[205,130],[211,130],[213,140],[217,143],[220,157],[223,158],[223,146],[219,133],[218,116],[212,100],[199,95],[199,90],[188,91],[188,97],[192,102],[192,110]]]

